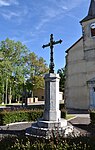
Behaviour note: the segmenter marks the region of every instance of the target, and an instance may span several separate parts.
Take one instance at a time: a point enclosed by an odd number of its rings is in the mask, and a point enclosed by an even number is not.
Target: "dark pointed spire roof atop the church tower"
[[[80,23],[95,18],[95,0],[91,0],[88,15]]]

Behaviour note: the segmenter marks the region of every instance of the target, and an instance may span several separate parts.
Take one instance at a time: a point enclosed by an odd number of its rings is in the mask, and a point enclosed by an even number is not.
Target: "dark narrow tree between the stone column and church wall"
[[[59,89],[60,89],[60,91],[64,92],[65,80],[66,80],[66,69],[65,69],[65,67],[58,69],[57,73],[60,76]]]

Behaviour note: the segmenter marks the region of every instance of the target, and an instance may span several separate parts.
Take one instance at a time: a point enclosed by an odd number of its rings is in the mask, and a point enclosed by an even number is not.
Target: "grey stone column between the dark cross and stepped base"
[[[45,121],[60,121],[59,79],[58,74],[45,75],[45,110],[43,115]]]

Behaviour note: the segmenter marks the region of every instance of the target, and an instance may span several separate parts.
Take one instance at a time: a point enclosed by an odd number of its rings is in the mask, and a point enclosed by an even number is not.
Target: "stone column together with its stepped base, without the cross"
[[[67,125],[67,120],[60,118],[59,110],[59,75],[46,74],[45,77],[45,107],[43,119],[39,119],[26,130],[26,135],[51,138],[66,136],[73,132],[73,126]]]

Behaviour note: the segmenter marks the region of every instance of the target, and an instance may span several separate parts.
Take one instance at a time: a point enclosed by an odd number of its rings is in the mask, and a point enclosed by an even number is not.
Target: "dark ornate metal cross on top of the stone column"
[[[45,48],[45,47],[49,47],[50,46],[50,65],[49,65],[49,73],[54,73],[54,61],[53,61],[53,45],[55,44],[61,44],[62,43],[62,40],[59,40],[59,41],[54,41],[53,40],[53,34],[50,35],[50,43],[46,44],[46,45],[43,45],[42,48]]]

